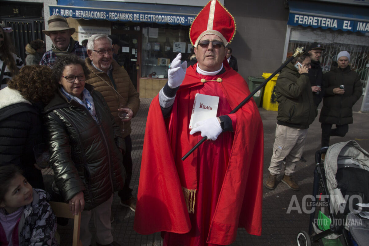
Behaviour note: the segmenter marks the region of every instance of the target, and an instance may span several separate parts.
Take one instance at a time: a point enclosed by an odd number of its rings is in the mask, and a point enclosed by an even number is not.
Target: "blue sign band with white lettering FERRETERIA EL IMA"
[[[288,18],[289,25],[302,25],[303,27],[321,27],[323,29],[331,28],[332,30],[352,31],[352,32],[369,32],[369,22],[343,20],[336,18],[326,18],[313,15],[302,15],[290,13]]]

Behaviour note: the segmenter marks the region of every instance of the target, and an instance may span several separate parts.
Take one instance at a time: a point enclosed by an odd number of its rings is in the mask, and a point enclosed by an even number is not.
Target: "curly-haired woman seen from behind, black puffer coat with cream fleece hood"
[[[41,110],[56,91],[47,66],[24,66],[0,90],[0,165],[16,164],[34,188],[44,188],[33,147],[44,142]]]

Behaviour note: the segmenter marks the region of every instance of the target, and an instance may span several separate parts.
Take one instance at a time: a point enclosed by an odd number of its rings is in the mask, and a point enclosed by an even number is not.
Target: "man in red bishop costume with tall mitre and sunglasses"
[[[161,231],[164,246],[228,245],[238,227],[261,235],[263,125],[253,99],[230,114],[250,94],[225,58],[234,34],[232,15],[211,0],[190,29],[198,63],[186,69],[179,53],[150,105],[134,229]],[[196,93],[218,96],[218,111],[191,130]]]

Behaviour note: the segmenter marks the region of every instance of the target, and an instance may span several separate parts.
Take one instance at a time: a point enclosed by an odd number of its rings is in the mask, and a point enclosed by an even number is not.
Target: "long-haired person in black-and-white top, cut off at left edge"
[[[9,80],[23,67],[22,59],[13,53],[14,45],[11,44],[11,39],[7,34],[9,31],[4,27],[3,21],[0,24],[0,89],[5,88]]]

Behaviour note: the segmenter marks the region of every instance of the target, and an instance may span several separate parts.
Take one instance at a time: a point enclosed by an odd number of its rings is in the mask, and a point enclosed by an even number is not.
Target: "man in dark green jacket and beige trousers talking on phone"
[[[300,190],[293,173],[304,150],[309,125],[317,116],[308,71],[311,59],[305,53],[288,63],[277,79],[276,94],[278,115],[273,155],[270,160],[270,175],[266,188],[276,188],[276,180],[282,174],[283,161],[286,168],[281,180],[292,190]]]

